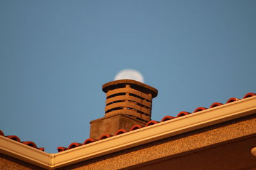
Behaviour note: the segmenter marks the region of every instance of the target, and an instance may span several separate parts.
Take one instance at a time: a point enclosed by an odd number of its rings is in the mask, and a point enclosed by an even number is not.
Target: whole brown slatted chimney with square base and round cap
[[[129,131],[133,125],[151,120],[152,99],[157,89],[135,80],[116,80],[102,85],[106,93],[105,117],[90,122],[90,138],[115,135],[119,129]]]

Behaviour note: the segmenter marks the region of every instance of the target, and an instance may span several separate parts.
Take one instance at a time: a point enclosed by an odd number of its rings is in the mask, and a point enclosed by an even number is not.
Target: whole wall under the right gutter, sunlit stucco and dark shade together
[[[252,168],[256,167],[256,157],[250,153],[256,146],[255,127],[253,114],[61,169]]]

